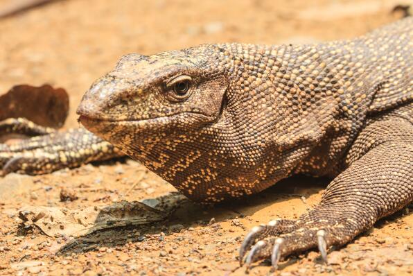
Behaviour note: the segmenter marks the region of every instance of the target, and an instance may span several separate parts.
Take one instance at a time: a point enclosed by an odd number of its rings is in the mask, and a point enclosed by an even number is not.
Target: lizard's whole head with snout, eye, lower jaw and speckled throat
[[[202,139],[211,143],[204,135],[229,86],[211,47],[123,56],[83,96],[80,122],[169,182],[182,182],[177,174],[200,157]]]

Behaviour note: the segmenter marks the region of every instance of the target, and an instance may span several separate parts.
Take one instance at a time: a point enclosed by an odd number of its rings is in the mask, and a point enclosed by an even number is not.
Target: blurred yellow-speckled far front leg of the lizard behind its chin
[[[24,119],[0,122],[0,135],[19,133],[34,136],[16,144],[0,144],[0,174],[51,173],[94,161],[123,156],[123,153],[84,128],[58,132]]]

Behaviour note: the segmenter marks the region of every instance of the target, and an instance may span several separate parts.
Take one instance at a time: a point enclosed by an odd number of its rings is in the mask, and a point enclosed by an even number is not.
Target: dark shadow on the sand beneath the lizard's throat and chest
[[[318,193],[326,187],[329,180],[324,178],[308,178],[296,176],[282,180],[273,187],[252,196],[222,202],[214,206],[204,206],[182,200],[174,212],[164,220],[148,225],[134,225],[125,227],[114,227],[101,230],[86,236],[72,239],[58,250],[57,255],[72,255],[95,250],[97,247],[114,248],[125,243],[134,243],[146,239],[146,234],[166,235],[174,232],[174,225],[182,226],[184,229],[195,225],[210,225],[212,221],[220,223],[229,219],[252,216],[259,210],[273,205],[276,202],[283,202],[292,198],[308,198],[313,193]],[[166,195],[173,197],[176,193]],[[274,210],[276,214],[276,210]],[[212,220],[212,221],[211,221]],[[264,221],[262,223],[265,223]],[[181,226],[182,225],[182,226]]]

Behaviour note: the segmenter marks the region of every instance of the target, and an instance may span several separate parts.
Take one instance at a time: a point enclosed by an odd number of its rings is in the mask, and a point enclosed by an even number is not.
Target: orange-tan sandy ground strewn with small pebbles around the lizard
[[[0,7],[6,0],[0,0]],[[50,83],[71,97],[76,127],[82,94],[125,53],[150,54],[206,42],[311,43],[346,39],[394,21],[398,1],[67,0],[0,20],[0,94],[12,85]],[[135,183],[137,171],[145,176]],[[186,202],[164,223],[79,238],[18,230],[25,205],[70,208],[143,200],[175,189],[136,162],[120,160],[29,177],[0,178],[0,275],[243,275],[236,255],[247,231],[297,218],[317,204],[328,180],[292,178],[240,202],[202,208]],[[130,187],[136,184],[135,189]],[[60,202],[61,189],[73,202]],[[279,275],[413,273],[413,216],[404,209],[376,223],[322,265],[317,252],[291,257]],[[64,247],[71,242],[74,246]],[[250,272],[266,275],[263,262]]]

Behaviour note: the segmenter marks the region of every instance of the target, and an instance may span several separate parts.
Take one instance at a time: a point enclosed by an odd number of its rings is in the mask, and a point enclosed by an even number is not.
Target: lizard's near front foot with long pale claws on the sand
[[[360,228],[371,226],[370,222],[360,221],[361,217],[324,207],[313,209],[297,221],[277,220],[256,226],[241,245],[240,264],[245,259],[248,270],[254,262],[270,259],[272,266],[277,268],[280,259],[312,248],[318,248],[327,264],[329,247],[348,243]]]

